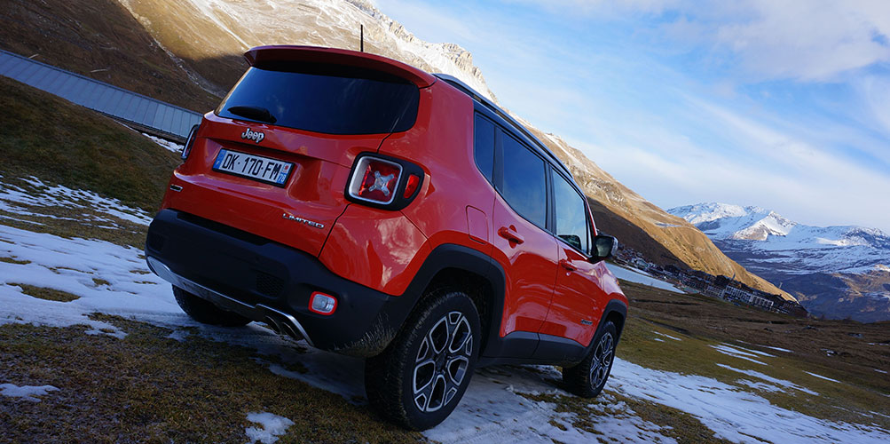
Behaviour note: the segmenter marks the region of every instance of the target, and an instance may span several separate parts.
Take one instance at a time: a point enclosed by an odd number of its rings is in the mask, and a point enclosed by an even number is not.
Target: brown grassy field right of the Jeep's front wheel
[[[880,338],[887,339],[890,331],[886,325],[796,319],[737,307],[707,296],[677,295],[629,282],[622,282],[622,288],[630,298],[631,311],[619,344],[619,358],[643,367],[713,377],[724,383],[750,379],[750,376],[718,367],[716,363],[754,370],[819,393],[817,396],[795,390],[757,393],[776,406],[829,421],[874,423],[890,430],[888,418],[870,414],[876,409],[886,411],[890,405],[884,395],[890,392],[890,381],[875,371],[890,367],[887,350],[890,347],[869,344],[879,342]],[[654,332],[673,335],[681,341]],[[861,334],[862,338],[848,335],[852,332]],[[712,347],[720,343],[763,351],[773,357],[757,357],[756,360],[765,364],[759,365],[727,356]],[[823,350],[835,353],[828,356]]]

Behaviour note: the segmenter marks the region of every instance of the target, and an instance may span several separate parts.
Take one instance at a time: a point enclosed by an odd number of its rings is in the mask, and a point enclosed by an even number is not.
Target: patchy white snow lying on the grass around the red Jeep
[[[15,201],[46,203],[50,201],[46,199],[53,196],[77,196],[95,202],[93,209],[101,209],[109,216],[130,214],[134,221],[147,221],[147,217],[138,211],[119,203],[110,205],[110,201],[85,191],[45,188],[54,191],[32,197],[17,194],[13,187],[3,185],[0,190],[5,191],[0,194],[0,205],[14,207]],[[55,200],[52,202],[53,205],[57,203]],[[68,205],[64,198],[61,204]],[[38,212],[39,206],[31,207],[30,211]],[[148,272],[139,249],[101,240],[61,238],[20,230],[5,226],[2,222],[0,219],[0,258],[7,261],[0,262],[0,324],[32,323],[58,327],[86,324],[91,327],[87,334],[125,337],[125,332],[117,327],[88,317],[97,311],[109,313],[174,328],[171,337],[178,340],[185,340],[192,334],[191,331],[197,331],[198,335],[253,347],[258,351],[258,356],[277,355],[284,363],[300,362],[307,368],[304,374],[289,372],[279,364],[256,358],[276,375],[303,380],[331,392],[332,396],[342,395],[347,400],[355,400],[354,397],[364,394],[360,359],[312,349],[296,353],[294,347],[305,347],[304,343],[294,343],[256,324],[241,328],[196,324],[176,305],[170,286]],[[634,275],[635,279],[647,278],[639,273]],[[50,287],[75,295],[77,299],[67,303],[38,299],[23,293],[20,285]],[[186,330],[182,327],[198,328]],[[672,335],[661,336],[672,341],[684,340]],[[727,359],[767,359],[771,356],[738,346],[721,344],[717,347],[727,353],[732,351],[732,356],[727,356]],[[719,362],[716,365],[738,372],[745,379],[724,383],[700,375],[654,370],[616,359],[605,392],[601,398],[591,400],[587,407],[588,413],[592,412],[588,418],[592,424],[590,427],[596,433],[573,426],[578,414],[557,412],[554,403],[528,398],[528,395],[535,394],[571,396],[557,388],[560,374],[554,367],[482,368],[473,376],[469,390],[454,413],[425,434],[431,440],[470,443],[550,440],[580,443],[595,442],[603,436],[619,441],[674,442],[667,436],[666,428],[643,420],[632,408],[618,401],[620,396],[684,411],[698,418],[717,437],[732,441],[890,441],[890,433],[877,426],[833,423],[805,416],[775,406],[758,394],[774,391],[815,393],[805,387],[760,372],[737,369]],[[25,396],[34,400],[38,400],[38,396],[52,396],[51,391],[56,389],[49,386],[18,387],[8,381],[0,381],[0,384],[3,391],[0,394],[4,396],[18,396],[8,393],[26,393]],[[58,387],[58,390],[77,388]],[[273,442],[280,434],[287,432],[293,419],[278,416],[275,412],[252,413],[247,420],[258,425],[247,427],[247,436],[252,442]]]

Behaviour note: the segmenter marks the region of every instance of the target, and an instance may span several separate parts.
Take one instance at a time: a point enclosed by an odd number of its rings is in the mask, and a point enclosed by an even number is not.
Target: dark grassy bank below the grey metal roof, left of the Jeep
[[[157,211],[179,157],[140,133],[52,94],[0,77],[0,174],[36,176]]]

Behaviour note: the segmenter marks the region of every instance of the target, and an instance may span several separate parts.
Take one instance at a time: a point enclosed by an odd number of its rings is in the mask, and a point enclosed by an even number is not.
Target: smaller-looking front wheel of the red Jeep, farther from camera
[[[570,392],[584,398],[594,398],[603,391],[615,360],[615,345],[618,343],[618,329],[606,321],[594,337],[593,346],[578,365],[562,367],[562,382]]]

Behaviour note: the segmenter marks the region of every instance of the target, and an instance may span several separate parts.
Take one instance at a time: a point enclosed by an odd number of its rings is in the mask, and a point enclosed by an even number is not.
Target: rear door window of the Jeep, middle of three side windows
[[[546,227],[547,184],[544,160],[504,133],[504,186],[501,194],[516,213]]]

